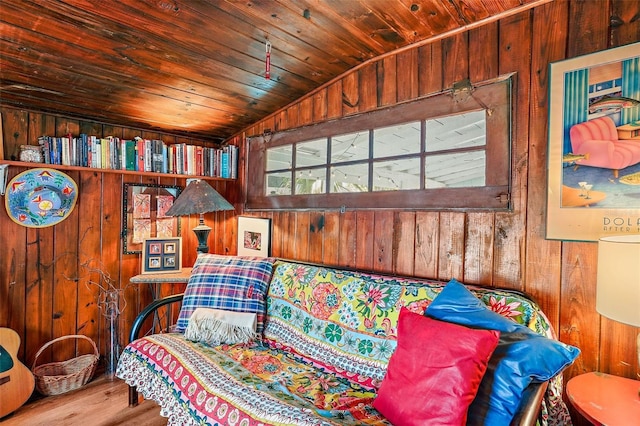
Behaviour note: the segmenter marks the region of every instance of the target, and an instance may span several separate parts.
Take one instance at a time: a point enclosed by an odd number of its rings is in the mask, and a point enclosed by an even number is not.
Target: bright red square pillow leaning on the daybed
[[[374,408],[396,426],[464,425],[498,336],[401,308],[398,346]]]

